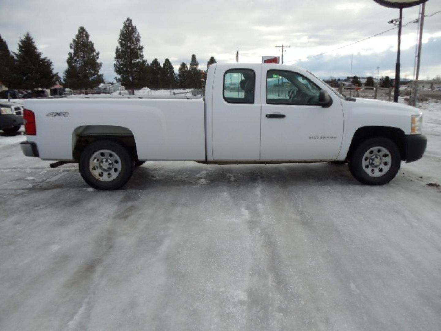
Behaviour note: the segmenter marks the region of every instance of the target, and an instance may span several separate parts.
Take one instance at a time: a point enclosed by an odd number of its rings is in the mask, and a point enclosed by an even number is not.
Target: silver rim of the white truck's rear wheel
[[[89,160],[89,169],[99,181],[113,181],[121,172],[120,157],[112,150],[98,150]]]

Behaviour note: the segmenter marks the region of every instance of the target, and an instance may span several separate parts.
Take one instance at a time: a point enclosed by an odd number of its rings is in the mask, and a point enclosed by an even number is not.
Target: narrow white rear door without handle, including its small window
[[[259,160],[260,75],[260,65],[217,67],[212,107],[213,160]]]

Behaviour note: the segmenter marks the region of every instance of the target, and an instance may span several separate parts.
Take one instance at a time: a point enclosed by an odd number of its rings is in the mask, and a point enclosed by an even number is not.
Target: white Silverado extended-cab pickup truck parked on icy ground
[[[364,184],[386,184],[420,159],[422,113],[345,98],[304,69],[213,64],[205,98],[28,99],[26,156],[78,162],[93,188],[113,190],[146,160],[206,164],[348,162]]]

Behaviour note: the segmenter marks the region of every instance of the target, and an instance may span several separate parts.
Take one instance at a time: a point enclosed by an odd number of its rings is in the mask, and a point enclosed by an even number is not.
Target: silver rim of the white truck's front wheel
[[[392,165],[392,156],[384,147],[376,146],[366,150],[363,155],[363,170],[370,177],[381,177]]]

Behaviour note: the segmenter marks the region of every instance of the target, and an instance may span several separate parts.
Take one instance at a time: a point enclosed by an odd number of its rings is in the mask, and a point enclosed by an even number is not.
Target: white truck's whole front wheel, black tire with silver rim
[[[349,158],[352,176],[367,185],[389,183],[400,170],[400,165],[400,150],[392,140],[385,137],[365,140]]]

